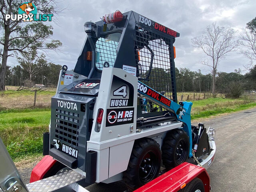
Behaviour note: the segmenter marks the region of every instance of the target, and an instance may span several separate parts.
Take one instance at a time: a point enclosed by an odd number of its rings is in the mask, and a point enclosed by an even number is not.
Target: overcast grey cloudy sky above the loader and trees
[[[239,35],[246,23],[256,16],[256,0],[64,0],[60,6],[68,7],[68,10],[58,17],[58,25],[54,22],[50,24],[54,27],[53,38],[63,44],[62,52],[51,51],[48,54],[55,64],[65,64],[69,69],[74,68],[84,43],[84,22],[97,22],[100,17],[115,10],[133,10],[179,32],[180,37],[174,43],[176,67],[193,71],[201,69],[204,74],[209,73],[209,68],[200,61],[206,56],[192,47],[191,38],[200,35],[212,22],[217,22],[218,26],[230,26]],[[232,53],[221,61],[218,71],[243,70],[243,65],[248,63],[249,60],[241,54]],[[16,64],[15,58],[8,58],[8,65]]]

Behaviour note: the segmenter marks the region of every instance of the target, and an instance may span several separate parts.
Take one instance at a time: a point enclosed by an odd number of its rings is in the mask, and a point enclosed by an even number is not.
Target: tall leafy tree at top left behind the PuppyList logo
[[[57,0],[33,0],[38,14],[57,16],[64,9],[58,6]],[[10,52],[26,53],[28,49],[58,49],[62,43],[52,40],[52,26],[43,22],[22,22],[6,20],[6,14],[18,14],[20,0],[0,0],[0,91],[5,90],[7,59],[13,56]]]

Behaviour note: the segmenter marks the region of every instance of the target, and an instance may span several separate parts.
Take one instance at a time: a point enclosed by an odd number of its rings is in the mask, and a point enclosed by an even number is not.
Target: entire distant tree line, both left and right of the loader
[[[26,56],[24,56],[26,58]],[[36,84],[53,85],[58,83],[61,65],[56,65],[44,60],[44,55],[40,60],[29,60],[26,62],[24,58],[19,59],[20,65],[8,67],[6,73],[6,85],[20,86],[25,80],[30,79]],[[162,80],[154,74],[162,75]],[[153,68],[150,80],[157,82],[156,90],[166,90],[169,92],[170,87],[166,87],[166,82],[171,82],[170,70],[162,68]],[[161,82],[163,81],[163,82]],[[242,87],[242,90],[256,89],[256,65],[250,69],[250,72],[241,74],[241,70],[235,70],[231,73],[217,72],[216,74],[216,92],[227,93],[235,84],[237,87]],[[212,74],[202,74],[201,70],[191,71],[188,68],[176,68],[176,89],[177,92],[211,92],[212,90]]]

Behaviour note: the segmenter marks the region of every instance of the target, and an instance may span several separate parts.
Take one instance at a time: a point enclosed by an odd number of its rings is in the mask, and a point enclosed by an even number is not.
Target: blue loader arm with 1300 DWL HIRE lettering
[[[150,96],[151,92],[155,92],[154,97]],[[150,88],[149,86],[140,81],[138,81],[138,93],[174,111],[177,119],[183,122],[182,129],[188,134],[190,148],[189,157],[192,157],[192,128],[190,112],[193,103],[184,101],[182,102],[183,106],[180,106],[176,102],[168,99],[167,97],[163,96],[156,90]]]

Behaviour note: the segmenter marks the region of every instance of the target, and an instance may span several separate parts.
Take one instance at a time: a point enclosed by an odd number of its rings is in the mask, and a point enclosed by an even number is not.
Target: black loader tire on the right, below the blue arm
[[[162,145],[162,160],[165,168],[170,170],[186,162],[188,155],[189,139],[186,132],[182,129],[169,131]]]

